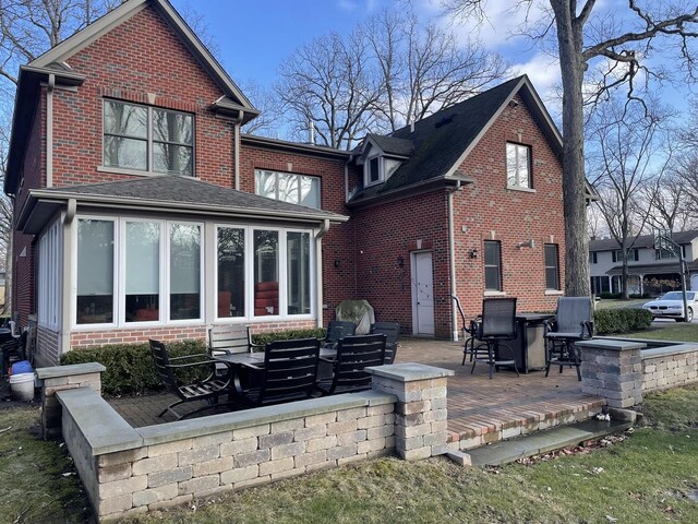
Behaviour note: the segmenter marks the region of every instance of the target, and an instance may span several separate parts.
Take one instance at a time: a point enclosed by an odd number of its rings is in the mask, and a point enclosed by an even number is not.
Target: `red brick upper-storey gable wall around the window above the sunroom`
[[[195,115],[195,175],[225,187],[233,179],[232,124],[210,104],[222,92],[170,27],[151,8],[113,28],[68,60],[86,80],[76,93],[55,93],[53,183],[121,180],[97,171],[103,152],[103,100],[113,96]]]

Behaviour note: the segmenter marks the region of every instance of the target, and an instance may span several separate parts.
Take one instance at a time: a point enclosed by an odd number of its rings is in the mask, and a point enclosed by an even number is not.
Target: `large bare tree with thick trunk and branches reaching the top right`
[[[486,0],[442,0],[456,17],[480,16]],[[546,5],[542,26],[529,35],[553,38],[559,59],[563,85],[563,201],[566,223],[565,290],[571,296],[587,296],[589,263],[587,214],[585,202],[585,73],[593,68],[602,72],[592,98],[609,90],[625,86],[629,98],[638,98],[640,79],[662,80],[667,70],[650,70],[653,51],[672,47],[683,59],[673,69],[694,78],[690,40],[698,36],[698,5],[683,0],[627,0],[615,14],[594,12],[597,0],[520,0],[518,9]]]

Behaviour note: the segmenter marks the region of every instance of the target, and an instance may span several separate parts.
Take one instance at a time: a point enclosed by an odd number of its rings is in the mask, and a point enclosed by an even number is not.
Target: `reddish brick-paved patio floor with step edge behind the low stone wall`
[[[581,392],[574,369],[562,374],[555,369],[549,378],[544,371],[520,377],[502,371],[490,380],[485,365],[470,374],[470,366],[461,366],[461,343],[426,338],[402,338],[396,359],[396,364],[420,362],[455,371],[448,379],[448,431],[449,441],[459,441],[461,449],[582,420],[605,404]],[[133,427],[144,427],[171,421],[173,417],[157,414],[172,400],[172,395],[156,394],[109,403]],[[204,415],[213,413],[216,409]]]

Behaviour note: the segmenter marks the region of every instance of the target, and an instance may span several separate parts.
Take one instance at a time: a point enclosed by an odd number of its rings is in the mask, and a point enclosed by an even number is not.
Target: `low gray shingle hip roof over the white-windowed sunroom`
[[[163,175],[140,177],[116,182],[86,183],[40,190],[41,194],[72,194],[105,199],[122,199],[124,203],[161,205],[164,203],[186,205],[209,205],[221,211],[256,211],[273,216],[305,216],[318,219],[344,221],[342,215],[313,207],[280,202],[234,189],[224,188],[196,178]],[[79,199],[80,200],[80,199]]]

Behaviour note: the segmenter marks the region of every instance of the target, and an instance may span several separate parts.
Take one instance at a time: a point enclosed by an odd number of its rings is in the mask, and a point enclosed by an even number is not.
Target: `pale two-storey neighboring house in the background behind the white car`
[[[687,286],[698,288],[698,230],[674,233],[674,242],[681,246],[688,266],[690,282]],[[589,274],[591,293],[623,291],[623,255],[615,239],[589,241]],[[652,235],[641,235],[628,252],[628,291],[630,294],[659,294],[669,290],[669,282],[681,286],[678,258],[675,253],[654,248]]]

